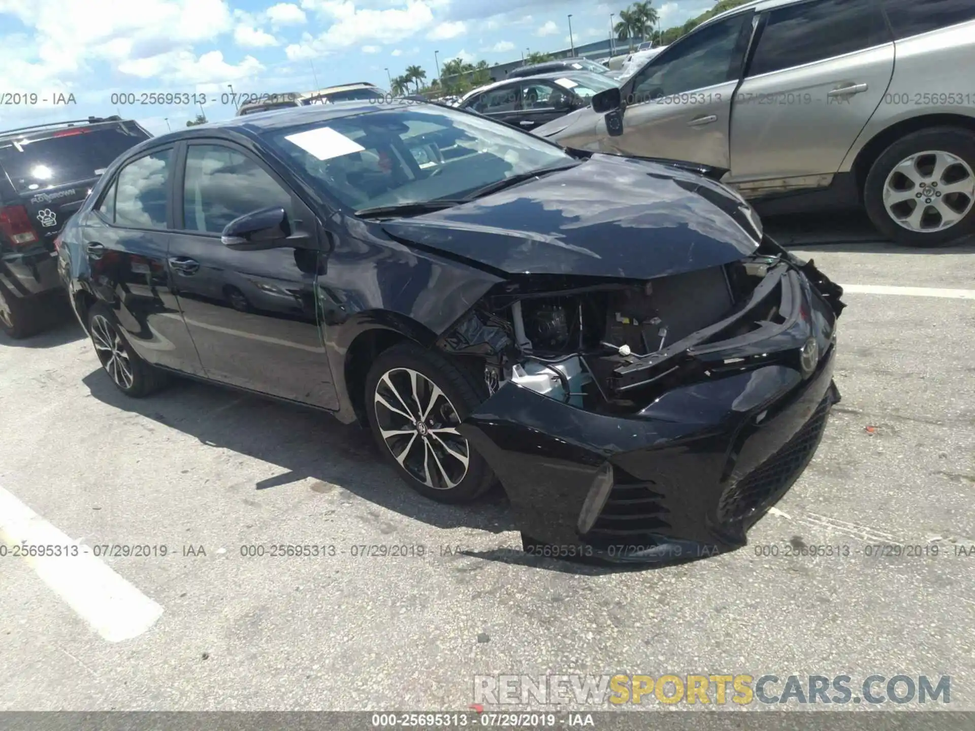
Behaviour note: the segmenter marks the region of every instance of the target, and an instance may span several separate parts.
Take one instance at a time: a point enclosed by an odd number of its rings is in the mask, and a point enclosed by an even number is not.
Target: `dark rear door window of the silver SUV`
[[[887,24],[874,0],[815,0],[790,5],[768,14],[748,75],[842,56],[889,41]]]

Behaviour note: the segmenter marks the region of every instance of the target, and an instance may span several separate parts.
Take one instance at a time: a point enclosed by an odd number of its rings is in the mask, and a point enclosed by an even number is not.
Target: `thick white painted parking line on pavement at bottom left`
[[[0,487],[0,544],[61,547],[61,556],[25,557],[37,575],[109,642],[131,639],[148,630],[163,607],[34,513]],[[77,551],[77,556],[71,554]]]

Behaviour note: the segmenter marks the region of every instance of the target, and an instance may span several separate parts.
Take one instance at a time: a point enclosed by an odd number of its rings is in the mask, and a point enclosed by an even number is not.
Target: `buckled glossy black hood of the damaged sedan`
[[[593,155],[454,208],[386,221],[417,248],[506,274],[652,279],[753,253],[761,231],[738,196],[669,165]]]

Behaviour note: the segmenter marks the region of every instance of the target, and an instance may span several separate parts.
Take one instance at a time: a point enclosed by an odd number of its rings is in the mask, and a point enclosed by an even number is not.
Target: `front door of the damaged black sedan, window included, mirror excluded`
[[[318,327],[320,251],[231,250],[227,223],[283,207],[294,230],[318,236],[315,216],[260,163],[225,142],[190,142],[176,184],[168,265],[207,375],[305,404],[337,407]]]

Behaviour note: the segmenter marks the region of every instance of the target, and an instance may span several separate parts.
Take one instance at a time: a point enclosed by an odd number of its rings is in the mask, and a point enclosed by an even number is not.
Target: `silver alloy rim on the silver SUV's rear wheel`
[[[917,152],[894,166],[883,183],[887,214],[909,231],[951,228],[973,203],[975,174],[950,152]]]

